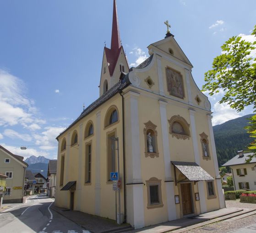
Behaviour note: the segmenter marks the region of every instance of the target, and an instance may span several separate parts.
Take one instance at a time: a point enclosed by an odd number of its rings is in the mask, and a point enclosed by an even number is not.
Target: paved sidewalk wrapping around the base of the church
[[[86,230],[92,233],[114,233],[114,232],[126,232],[126,233],[165,233],[169,231],[178,230],[194,224],[210,221],[217,222],[229,217],[238,216],[247,212],[252,212],[255,209],[245,209],[229,207],[212,211],[204,214],[200,214],[196,217],[191,218],[180,218],[177,220],[159,223],[153,226],[145,227],[142,229],[134,230],[129,224],[122,224],[121,226],[116,224],[114,220],[97,217],[87,213],[79,211],[69,211],[60,207],[51,207],[54,211],[67,217],[78,225],[82,226]],[[202,223],[203,224],[203,223]]]

